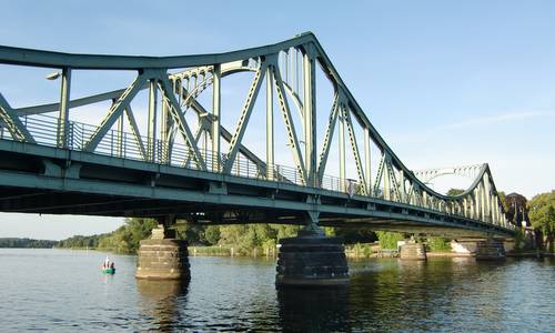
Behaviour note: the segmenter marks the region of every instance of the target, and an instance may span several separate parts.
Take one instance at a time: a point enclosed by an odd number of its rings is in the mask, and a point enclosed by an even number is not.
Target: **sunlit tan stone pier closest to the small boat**
[[[165,220],[168,221],[168,220]],[[174,233],[160,223],[150,239],[142,240],[138,251],[137,279],[189,280],[186,241],[175,240]]]

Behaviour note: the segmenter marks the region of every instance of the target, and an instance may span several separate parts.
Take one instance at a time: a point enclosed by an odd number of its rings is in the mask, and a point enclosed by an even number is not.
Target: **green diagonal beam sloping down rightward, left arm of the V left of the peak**
[[[183,135],[183,139],[185,140],[185,143],[189,145],[189,149],[192,151],[194,159],[196,163],[199,164],[199,168],[201,170],[206,171],[206,164],[204,163],[204,160],[202,159],[201,153],[199,152],[199,148],[196,147],[194,142],[193,134],[191,132],[191,129],[186,124],[185,117],[183,115],[183,112],[181,112],[181,108],[179,105],[178,99],[175,98],[175,94],[173,93],[172,90],[172,84],[170,83],[168,75],[165,73],[161,74],[159,78],[159,83],[160,88],[162,88],[162,92],[170,102],[170,114],[173,118],[173,122],[176,124],[178,129],[181,132],[181,135]]]

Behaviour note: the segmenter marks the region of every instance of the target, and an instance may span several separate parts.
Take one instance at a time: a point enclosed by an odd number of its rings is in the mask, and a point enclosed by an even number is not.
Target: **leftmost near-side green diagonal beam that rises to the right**
[[[152,72],[148,70],[143,71],[135,78],[133,83],[131,83],[131,85],[125,89],[125,91],[118,98],[115,103],[112,104],[112,107],[108,111],[108,114],[102,120],[100,127],[97,128],[97,131],[94,131],[89,141],[84,144],[84,151],[93,152],[97,149],[102,138],[104,138],[104,135],[114,124],[115,120],[118,120],[123,110],[129,107],[131,100],[142,89],[142,85],[148,79],[151,78],[151,75]]]

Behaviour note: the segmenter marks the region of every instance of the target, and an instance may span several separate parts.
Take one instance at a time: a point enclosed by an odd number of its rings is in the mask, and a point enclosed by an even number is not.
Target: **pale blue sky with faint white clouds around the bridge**
[[[532,198],[555,189],[553,1],[0,4],[0,44],[77,53],[225,52],[312,31],[373,125],[410,169],[487,162],[498,190]],[[37,75],[46,73],[39,70]],[[0,65],[0,92],[16,107],[57,101],[56,93],[47,93],[57,91],[47,87],[51,83],[31,83],[31,77]],[[119,79],[105,83],[84,77],[90,83],[82,91],[121,88],[113,83]],[[58,240],[109,232],[121,223],[2,213],[0,236]]]

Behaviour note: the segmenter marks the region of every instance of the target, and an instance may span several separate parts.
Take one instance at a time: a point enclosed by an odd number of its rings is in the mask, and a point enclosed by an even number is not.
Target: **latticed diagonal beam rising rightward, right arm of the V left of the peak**
[[[241,144],[241,141],[243,140],[246,124],[249,123],[249,119],[251,118],[254,102],[256,101],[260,87],[262,85],[262,81],[266,72],[266,62],[261,63],[259,71],[254,75],[251,88],[249,89],[249,94],[246,95],[243,111],[241,112],[238,124],[235,125],[235,132],[233,133],[233,137],[230,141],[230,149],[228,151],[225,165],[223,167],[223,173],[230,173],[231,169],[233,168],[233,162],[235,161],[239,151],[239,144]]]

